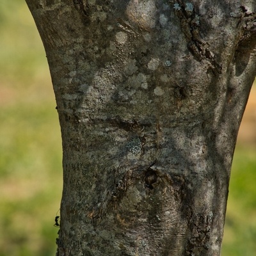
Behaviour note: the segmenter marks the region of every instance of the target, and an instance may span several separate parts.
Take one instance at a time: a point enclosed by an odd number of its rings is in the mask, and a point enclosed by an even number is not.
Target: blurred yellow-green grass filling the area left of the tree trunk
[[[25,1],[0,1],[0,256],[55,255],[61,139],[42,42]]]

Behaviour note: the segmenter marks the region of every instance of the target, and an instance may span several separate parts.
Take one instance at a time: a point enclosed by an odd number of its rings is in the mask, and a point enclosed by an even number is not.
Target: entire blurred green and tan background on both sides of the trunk
[[[55,255],[60,126],[45,52],[25,1],[1,0],[0,35],[0,256]],[[234,156],[222,256],[256,255],[253,89]]]

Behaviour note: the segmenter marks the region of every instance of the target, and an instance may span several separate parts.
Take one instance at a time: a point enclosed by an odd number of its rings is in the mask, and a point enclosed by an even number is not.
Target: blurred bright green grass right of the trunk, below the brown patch
[[[222,256],[256,255],[256,147],[237,145],[232,166]]]

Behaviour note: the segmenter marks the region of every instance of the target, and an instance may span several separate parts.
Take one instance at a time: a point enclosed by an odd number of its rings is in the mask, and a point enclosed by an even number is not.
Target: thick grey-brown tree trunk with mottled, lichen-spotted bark
[[[26,1],[63,140],[57,255],[220,255],[255,0]]]

